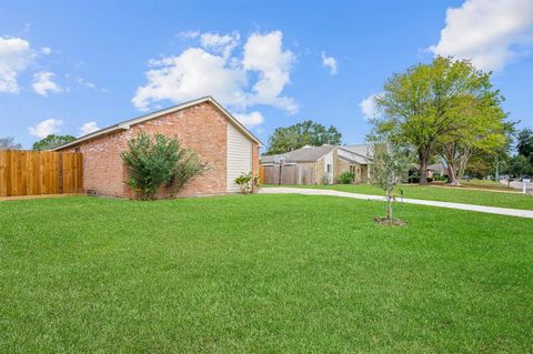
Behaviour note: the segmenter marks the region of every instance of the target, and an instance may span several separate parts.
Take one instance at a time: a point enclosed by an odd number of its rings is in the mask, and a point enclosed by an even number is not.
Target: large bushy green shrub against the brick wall
[[[130,171],[133,195],[153,199],[161,186],[168,185],[175,194],[190,179],[203,172],[205,164],[190,150],[181,148],[177,139],[163,134],[153,138],[140,132],[128,141],[128,151],[121,153]]]

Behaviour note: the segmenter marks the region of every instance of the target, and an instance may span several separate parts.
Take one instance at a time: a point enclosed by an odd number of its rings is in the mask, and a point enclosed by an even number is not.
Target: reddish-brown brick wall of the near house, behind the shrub
[[[209,170],[185,184],[180,196],[215,195],[227,193],[227,128],[225,117],[211,103],[200,103],[158,119],[145,121],[131,129],[98,136],[66,151],[83,153],[83,189],[97,194],[131,196],[128,170],[120,158],[130,138],[142,130],[148,133],[162,133],[177,138],[182,145],[193,150]],[[77,148],[79,150],[77,150]],[[259,173],[259,146],[252,146],[252,172]],[[162,189],[158,198],[170,193]]]

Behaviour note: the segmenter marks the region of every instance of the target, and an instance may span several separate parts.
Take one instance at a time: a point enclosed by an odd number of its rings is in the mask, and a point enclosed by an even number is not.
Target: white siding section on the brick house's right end
[[[228,122],[228,192],[239,192],[235,179],[252,171],[252,142]]]

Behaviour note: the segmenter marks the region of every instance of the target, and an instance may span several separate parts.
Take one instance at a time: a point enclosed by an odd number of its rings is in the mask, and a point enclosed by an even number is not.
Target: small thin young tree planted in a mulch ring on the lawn
[[[374,159],[372,164],[372,175],[375,185],[385,191],[386,195],[386,218],[379,219],[386,224],[402,224],[401,221],[394,221],[392,218],[392,191],[409,172],[409,158],[404,151],[399,149],[379,149],[374,148]]]

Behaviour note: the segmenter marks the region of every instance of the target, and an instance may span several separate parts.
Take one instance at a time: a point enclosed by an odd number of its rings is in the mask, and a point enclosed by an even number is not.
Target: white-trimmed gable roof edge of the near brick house
[[[108,133],[111,133],[111,132],[114,132],[114,131],[118,131],[118,130],[128,130],[128,129],[130,129],[131,125],[139,124],[139,123],[142,123],[142,122],[152,120],[152,119],[157,119],[157,118],[160,118],[161,115],[165,115],[165,114],[169,114],[169,113],[174,113],[174,112],[178,112],[178,111],[181,111],[181,110],[184,110],[187,108],[190,108],[190,107],[193,107],[193,105],[197,105],[197,104],[200,104],[200,103],[204,103],[204,102],[211,102],[228,119],[228,121],[230,123],[232,123],[239,131],[241,131],[250,140],[257,142],[260,146],[263,144],[241,122],[239,122],[233,115],[231,115],[231,113],[228,112],[219,102],[217,102],[212,97],[207,95],[207,97],[203,97],[203,98],[200,98],[200,99],[197,99],[197,100],[184,102],[184,103],[173,105],[173,107],[170,107],[170,108],[167,108],[167,109],[163,109],[163,110],[159,110],[159,111],[155,111],[155,112],[152,112],[152,113],[148,113],[148,114],[144,114],[144,115],[140,115],[140,117],[130,119],[130,120],[125,120],[125,121],[122,121],[120,123],[110,125],[108,128],[97,130],[95,132],[92,132],[92,133],[86,134],[83,136],[80,136],[74,141],[71,141],[71,142],[66,143],[66,144],[59,145],[59,146],[52,149],[52,151],[69,148],[69,146],[79,144],[80,142],[83,142],[83,141],[87,141],[87,140],[90,140],[90,139],[94,139],[97,136],[104,135],[104,134],[108,134]]]

